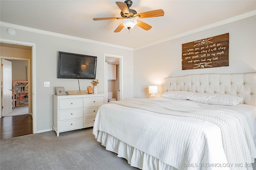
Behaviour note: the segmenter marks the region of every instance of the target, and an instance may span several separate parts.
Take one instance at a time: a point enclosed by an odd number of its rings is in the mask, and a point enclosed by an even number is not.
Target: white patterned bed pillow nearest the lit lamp
[[[188,91],[169,91],[161,94],[164,98],[175,99],[175,100],[188,100],[186,97],[194,94],[194,92]]]

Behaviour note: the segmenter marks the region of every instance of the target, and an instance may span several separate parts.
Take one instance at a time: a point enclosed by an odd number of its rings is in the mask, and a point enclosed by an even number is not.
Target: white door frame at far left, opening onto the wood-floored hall
[[[1,43],[9,43],[9,44],[18,44],[18,45],[24,45],[24,46],[30,46],[32,47],[32,56],[31,56],[31,62],[29,61],[28,64],[32,64],[32,70],[30,70],[30,74],[28,75],[29,81],[31,80],[30,76],[32,76],[32,86],[29,86],[30,88],[30,96],[32,100],[30,100],[31,104],[31,109],[32,109],[32,122],[33,122],[33,133],[37,133],[37,127],[36,127],[36,44],[35,43],[28,43],[24,41],[16,41],[16,40],[11,40],[11,39],[0,39]],[[2,58],[2,56],[1,56]],[[3,57],[4,58],[4,57]],[[14,59],[15,57],[9,57],[9,59]],[[16,58],[16,59],[21,59],[21,58]],[[1,61],[0,61],[1,62]],[[30,67],[28,66],[28,69]],[[2,69],[0,69],[0,76],[2,80]],[[31,89],[32,88],[32,89]],[[1,93],[0,93],[0,108],[2,108],[2,88],[1,88]],[[0,116],[2,117],[2,109],[0,109]]]

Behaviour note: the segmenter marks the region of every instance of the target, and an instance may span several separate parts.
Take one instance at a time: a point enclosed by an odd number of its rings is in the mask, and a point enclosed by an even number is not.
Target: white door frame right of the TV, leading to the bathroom
[[[106,57],[118,58],[119,59],[119,89],[120,89],[120,100],[124,99],[124,84],[123,84],[123,56],[120,55],[112,55],[112,54],[105,54],[103,57],[104,61],[104,98],[105,102],[108,103],[108,71],[106,67]]]

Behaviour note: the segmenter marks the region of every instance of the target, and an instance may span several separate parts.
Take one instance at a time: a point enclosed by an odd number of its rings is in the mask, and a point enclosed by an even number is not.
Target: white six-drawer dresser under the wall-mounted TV
[[[53,130],[61,132],[92,127],[104,94],[53,95]]]

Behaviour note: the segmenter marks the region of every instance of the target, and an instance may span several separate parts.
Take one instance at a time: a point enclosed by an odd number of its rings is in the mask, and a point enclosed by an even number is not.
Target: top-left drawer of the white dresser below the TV
[[[60,109],[83,107],[83,98],[60,99],[59,107]]]

